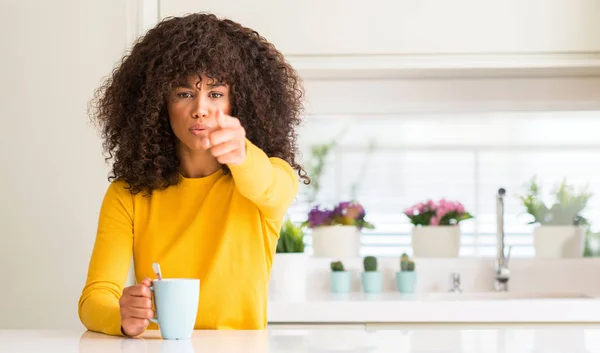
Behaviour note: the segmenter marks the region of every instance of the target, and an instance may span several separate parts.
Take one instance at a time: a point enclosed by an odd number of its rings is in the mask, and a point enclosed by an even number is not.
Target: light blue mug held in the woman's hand
[[[167,278],[152,281],[156,318],[161,336],[167,340],[190,339],[196,324],[200,280]]]

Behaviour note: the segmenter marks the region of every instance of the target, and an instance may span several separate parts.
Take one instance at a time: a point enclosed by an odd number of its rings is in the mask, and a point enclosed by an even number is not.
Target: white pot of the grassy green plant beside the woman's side
[[[307,272],[306,254],[276,253],[269,279],[269,296],[282,300],[304,298]]]

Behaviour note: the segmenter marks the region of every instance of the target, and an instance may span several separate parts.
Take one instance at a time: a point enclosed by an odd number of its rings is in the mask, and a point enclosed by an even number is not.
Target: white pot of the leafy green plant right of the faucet
[[[583,257],[585,227],[539,226],[533,230],[535,257],[558,259]]]

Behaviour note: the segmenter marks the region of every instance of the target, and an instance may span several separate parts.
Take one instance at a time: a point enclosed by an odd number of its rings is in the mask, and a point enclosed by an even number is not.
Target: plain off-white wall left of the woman
[[[87,102],[131,36],[122,0],[0,4],[0,329],[83,328],[108,167]]]

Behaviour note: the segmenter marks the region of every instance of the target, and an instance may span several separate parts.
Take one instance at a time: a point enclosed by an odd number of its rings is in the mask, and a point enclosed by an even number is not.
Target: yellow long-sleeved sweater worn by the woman
[[[264,329],[267,284],[285,213],[298,192],[291,166],[246,140],[246,159],[204,178],[180,176],[151,197],[113,182],[102,202],[79,317],[122,335],[119,298],[133,253],[138,282],[199,278],[196,329]],[[150,329],[156,329],[151,324]]]

